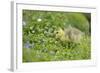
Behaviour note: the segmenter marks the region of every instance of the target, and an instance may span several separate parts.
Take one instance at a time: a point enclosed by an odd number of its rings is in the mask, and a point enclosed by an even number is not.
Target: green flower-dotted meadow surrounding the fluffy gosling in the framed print
[[[22,14],[23,62],[91,58],[90,13],[23,10]],[[84,33],[79,44],[56,39],[54,32],[69,25]]]

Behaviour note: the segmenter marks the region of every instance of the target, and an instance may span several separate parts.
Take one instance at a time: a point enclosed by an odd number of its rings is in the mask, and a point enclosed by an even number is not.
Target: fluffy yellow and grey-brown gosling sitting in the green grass
[[[82,31],[75,27],[72,27],[71,25],[64,29],[58,28],[58,30],[55,32],[56,38],[59,38],[61,41],[74,43],[80,43],[82,36],[84,35]]]

